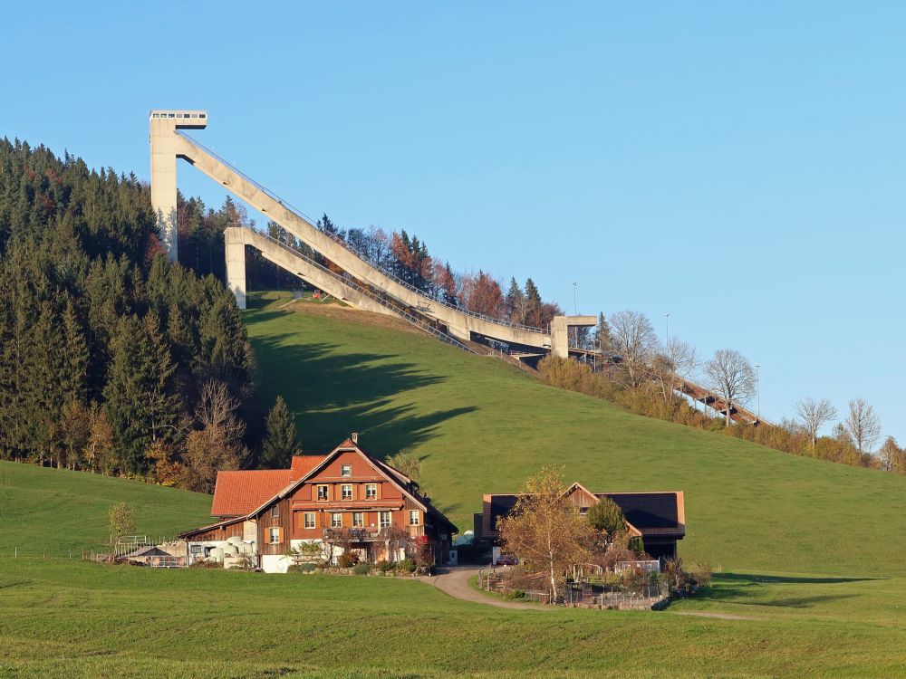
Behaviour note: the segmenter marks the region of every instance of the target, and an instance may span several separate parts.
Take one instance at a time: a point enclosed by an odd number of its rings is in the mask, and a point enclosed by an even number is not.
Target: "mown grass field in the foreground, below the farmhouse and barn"
[[[841,619],[873,606],[862,583],[747,587],[753,619],[739,620],[508,610],[395,579],[0,559],[0,676],[906,675],[901,617]]]

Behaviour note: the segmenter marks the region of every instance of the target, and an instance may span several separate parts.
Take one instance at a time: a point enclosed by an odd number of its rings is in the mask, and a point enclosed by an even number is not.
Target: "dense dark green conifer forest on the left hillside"
[[[0,295],[0,457],[201,491],[249,462],[236,303],[167,262],[134,175],[0,141]]]

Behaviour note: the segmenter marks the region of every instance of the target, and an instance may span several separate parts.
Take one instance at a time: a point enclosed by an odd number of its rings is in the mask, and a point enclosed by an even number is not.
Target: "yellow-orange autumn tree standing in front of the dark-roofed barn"
[[[586,561],[593,526],[565,497],[562,467],[545,467],[525,482],[516,505],[497,521],[504,550],[526,569],[544,573],[557,598],[569,569]]]

